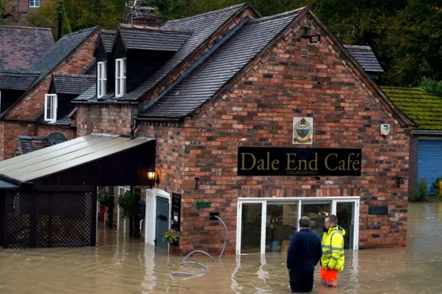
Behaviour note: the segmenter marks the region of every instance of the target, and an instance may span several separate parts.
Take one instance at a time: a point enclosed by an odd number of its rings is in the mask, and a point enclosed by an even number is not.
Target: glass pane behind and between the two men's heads
[[[310,228],[323,237],[325,217],[332,213],[332,201],[301,201],[300,217],[310,218]]]

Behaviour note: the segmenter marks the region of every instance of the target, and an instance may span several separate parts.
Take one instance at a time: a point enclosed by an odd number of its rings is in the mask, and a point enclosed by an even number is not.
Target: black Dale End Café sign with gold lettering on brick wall
[[[361,175],[362,149],[238,147],[238,175]]]

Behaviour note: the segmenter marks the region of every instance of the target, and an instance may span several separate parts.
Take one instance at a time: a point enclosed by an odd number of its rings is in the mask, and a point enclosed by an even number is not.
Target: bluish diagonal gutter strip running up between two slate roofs
[[[184,79],[184,77],[189,75],[193,70],[195,70],[195,68],[198,68],[198,66],[200,66],[204,60],[206,60],[209,56],[211,56],[212,53],[215,52],[216,49],[218,49],[218,47],[220,47],[222,44],[226,43],[226,41],[230,37],[232,37],[240,28],[242,28],[242,26],[244,26],[244,23],[248,20],[249,20],[249,17],[244,17],[244,19],[241,19],[241,21],[232,30],[230,30],[226,35],[224,35],[224,37],[222,37],[220,39],[220,41],[215,43],[215,45],[213,45],[213,47],[210,48],[209,51],[207,51],[204,55],[202,55],[202,57],[200,59],[198,59],[198,61],[193,63],[192,66],[190,68],[188,68],[180,77],[178,77],[176,81],[174,81],[172,84],[170,84],[166,88],[166,90],[161,92],[160,95],[158,95],[155,99],[153,99],[153,101],[150,101],[150,103],[148,105],[144,106],[144,104],[143,104],[143,105],[139,106],[140,110],[141,110],[140,112],[144,112],[144,111],[148,110],[149,108],[151,108],[153,105],[155,105],[158,100],[160,100],[162,97],[164,97],[164,95],[166,95],[170,90],[172,90],[173,87],[175,87],[177,84],[179,84],[180,81],[182,81],[182,79]]]

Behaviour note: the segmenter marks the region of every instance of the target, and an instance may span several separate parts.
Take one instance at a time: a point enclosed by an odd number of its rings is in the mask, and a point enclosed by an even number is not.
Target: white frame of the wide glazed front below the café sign
[[[296,220],[296,227],[299,230],[299,219],[301,215],[302,200],[306,202],[321,202],[328,200],[332,202],[332,214],[336,215],[336,203],[338,202],[352,202],[354,203],[354,232],[353,232],[353,248],[352,250],[358,250],[359,248],[359,206],[361,197],[359,196],[345,196],[345,197],[287,197],[287,198],[238,198],[237,212],[236,212],[236,254],[247,255],[254,253],[241,253],[241,232],[242,232],[242,204],[262,204],[261,215],[267,213],[267,202],[271,204],[297,204],[298,215]],[[261,244],[260,253],[265,254],[265,237],[266,237],[266,217],[261,217]]]

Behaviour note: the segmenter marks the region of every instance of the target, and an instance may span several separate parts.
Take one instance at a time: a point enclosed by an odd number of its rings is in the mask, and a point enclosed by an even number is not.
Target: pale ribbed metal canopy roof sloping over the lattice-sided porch
[[[20,155],[18,157],[0,161],[0,175],[16,179],[19,182],[33,182],[36,179],[41,179],[58,173],[65,173],[67,170],[77,168],[77,174],[72,175],[73,178],[77,177],[77,183],[74,184],[78,184],[78,179],[81,177],[81,173],[83,173],[85,177],[83,182],[94,182],[90,178],[91,175],[94,175],[97,171],[102,173],[102,175],[99,175],[102,177],[106,177],[105,174],[111,172],[111,170],[106,170],[108,164],[104,164],[102,168],[95,165],[93,166],[94,171],[91,169],[78,170],[78,167],[92,164],[99,159],[122,153],[125,150],[141,146],[149,141],[153,141],[153,138],[129,139],[127,137],[111,135],[87,135],[85,137],[79,137],[61,144],[27,153],[26,155]],[[153,156],[155,156],[155,148],[153,148]],[[121,161],[124,161],[133,168],[133,156],[128,154],[126,157],[127,158],[125,159],[120,158],[120,162],[115,162],[115,164],[121,166]],[[148,157],[147,161],[140,160],[145,165],[151,163],[152,154],[146,155],[146,157]],[[115,168],[119,167],[115,166]],[[146,166],[143,166],[142,168],[146,169]],[[66,179],[68,179],[68,177],[65,176],[64,182],[66,182]],[[58,182],[60,181],[58,180]],[[101,182],[102,181],[97,180],[96,184],[99,185]]]

